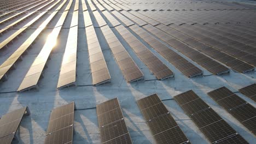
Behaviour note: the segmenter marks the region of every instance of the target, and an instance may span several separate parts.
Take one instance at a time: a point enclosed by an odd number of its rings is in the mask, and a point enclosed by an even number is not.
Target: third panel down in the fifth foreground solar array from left
[[[200,129],[212,143],[236,134],[236,131],[223,119],[210,125],[206,125]]]

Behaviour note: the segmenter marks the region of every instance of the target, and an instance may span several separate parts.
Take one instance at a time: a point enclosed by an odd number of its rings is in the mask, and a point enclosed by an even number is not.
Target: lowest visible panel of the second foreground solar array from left
[[[73,126],[46,135],[44,144],[71,143],[73,141]]]

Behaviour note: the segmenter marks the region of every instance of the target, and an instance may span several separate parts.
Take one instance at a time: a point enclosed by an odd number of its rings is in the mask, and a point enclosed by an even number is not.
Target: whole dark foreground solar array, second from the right
[[[256,134],[256,109],[226,87],[207,93],[220,106]]]

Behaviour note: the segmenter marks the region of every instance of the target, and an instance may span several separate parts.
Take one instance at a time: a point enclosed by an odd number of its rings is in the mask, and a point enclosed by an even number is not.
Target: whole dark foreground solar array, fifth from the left
[[[174,99],[211,143],[248,143],[242,137],[236,140],[240,135],[193,91],[178,94]]]

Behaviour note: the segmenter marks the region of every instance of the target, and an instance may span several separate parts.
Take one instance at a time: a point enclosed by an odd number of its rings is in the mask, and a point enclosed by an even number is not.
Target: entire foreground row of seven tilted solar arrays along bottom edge
[[[255,97],[255,86],[240,91]],[[207,94],[256,135],[255,107],[226,87]],[[174,99],[211,143],[248,143],[193,91],[178,94]],[[139,99],[137,104],[157,143],[190,143],[157,94]],[[72,102],[51,111],[44,143],[72,143],[74,110]],[[98,104],[96,111],[101,143],[132,143],[117,98]],[[0,119],[0,143],[11,143],[26,115],[30,115],[28,107],[9,112]]]

